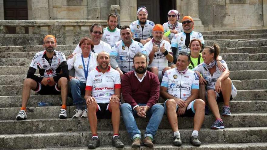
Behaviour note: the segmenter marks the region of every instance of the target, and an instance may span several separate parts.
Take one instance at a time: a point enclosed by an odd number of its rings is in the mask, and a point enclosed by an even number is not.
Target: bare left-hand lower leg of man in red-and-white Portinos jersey
[[[94,101],[92,104],[87,105],[88,110],[88,120],[90,124],[90,129],[92,132],[92,135],[97,135],[97,118],[96,118],[96,109],[98,109],[98,105],[96,101]]]

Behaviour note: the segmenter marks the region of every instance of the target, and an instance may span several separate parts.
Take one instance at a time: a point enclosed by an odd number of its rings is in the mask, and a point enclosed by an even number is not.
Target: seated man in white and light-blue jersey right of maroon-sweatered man
[[[164,103],[165,113],[174,133],[173,143],[181,146],[182,140],[178,131],[178,116],[194,116],[194,130],[190,142],[194,146],[200,146],[198,132],[204,120],[205,102],[198,98],[199,77],[194,71],[188,69],[190,56],[188,52],[180,52],[176,68],[164,73],[160,95],[166,99]]]

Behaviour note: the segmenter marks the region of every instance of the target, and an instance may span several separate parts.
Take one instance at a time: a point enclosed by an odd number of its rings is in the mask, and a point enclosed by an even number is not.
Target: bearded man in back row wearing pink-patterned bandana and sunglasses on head
[[[137,10],[138,20],[130,24],[131,32],[135,41],[145,45],[151,40],[152,28],[155,25],[154,22],[147,20],[147,8],[142,6]]]

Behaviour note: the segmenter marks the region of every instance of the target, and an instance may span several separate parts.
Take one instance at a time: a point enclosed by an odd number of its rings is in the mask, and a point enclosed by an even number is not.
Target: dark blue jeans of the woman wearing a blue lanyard
[[[86,83],[79,81],[76,78],[73,78],[70,82],[70,91],[73,98],[73,105],[76,106],[76,109],[83,110],[83,102],[84,98],[82,98],[82,94],[85,94],[85,86]]]

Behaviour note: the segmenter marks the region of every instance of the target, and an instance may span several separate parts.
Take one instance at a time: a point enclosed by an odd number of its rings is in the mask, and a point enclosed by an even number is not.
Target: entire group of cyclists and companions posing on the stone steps
[[[219,56],[219,46],[205,46],[202,34],[193,31],[193,18],[184,16],[180,23],[177,10],[168,12],[168,22],[163,25],[155,25],[147,16],[147,9],[140,7],[138,20],[119,29],[117,15],[109,14],[108,27],[93,24],[91,38],[82,38],[67,59],[55,50],[56,38],[47,35],[44,50],[35,54],[29,67],[16,119],[27,118],[31,89],[39,94],[61,93],[59,118],[67,118],[69,80],[76,107],[72,118],[89,119],[92,139],[88,148],[100,146],[97,119],[101,118],[112,121],[112,145],[124,147],[119,136],[120,113],[133,140],[132,147],[154,147],[153,138],[164,113],[176,146],[182,145],[177,116],[194,117],[190,138],[194,146],[201,145],[198,132],[209,108],[216,118],[211,129],[225,128],[217,103],[224,103],[222,115],[231,115],[229,101],[237,90],[226,62]],[[34,75],[37,68],[40,77]],[[69,73],[73,68],[74,73]],[[164,105],[157,104],[160,96]],[[150,118],[143,139],[134,119],[138,116]]]

